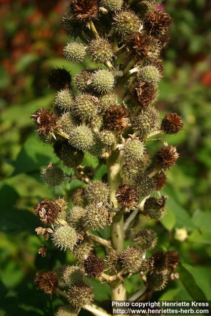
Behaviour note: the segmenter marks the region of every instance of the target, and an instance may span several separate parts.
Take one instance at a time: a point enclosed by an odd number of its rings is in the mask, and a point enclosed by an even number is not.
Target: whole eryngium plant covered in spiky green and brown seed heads
[[[93,67],[75,78],[65,68],[52,69],[49,87],[57,91],[53,108],[32,115],[39,139],[52,145],[61,160],[59,166],[50,163],[42,170],[43,181],[56,187],[79,179],[85,186],[72,193],[72,207],[61,197],[44,198],[35,206],[42,225],[36,232],[77,260],[59,274],[42,272],[35,278],[39,289],[67,298],[69,306],[60,307],[58,316],[77,315],[81,308],[94,315],[106,313],[92,303],[87,276],[108,282],[113,300],[127,299],[126,279],[134,274],[143,280],[134,299],[178,277],[178,254],[153,253],[157,234],[142,221],[144,216],[156,222],[165,216],[168,197],[160,190],[179,157],[176,148],[164,142],[151,158],[147,142],[183,127],[176,113],[160,121],[155,107],[164,75],[159,55],[172,22],[159,4],[161,0],[71,0],[63,17],[71,38],[65,58],[75,63],[89,58]],[[85,165],[87,155],[98,158],[96,168]],[[107,175],[96,181],[102,165]],[[126,238],[131,244],[127,247]],[[96,256],[96,245],[104,249],[103,258]],[[39,253],[45,257],[46,251],[43,241]]]

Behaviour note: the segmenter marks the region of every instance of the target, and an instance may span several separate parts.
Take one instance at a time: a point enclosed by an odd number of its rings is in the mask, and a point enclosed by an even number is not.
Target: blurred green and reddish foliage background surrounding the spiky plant
[[[37,270],[51,270],[73,259],[55,248],[48,250],[45,259],[38,255],[42,243],[35,234],[39,221],[33,206],[39,199],[62,196],[81,183],[73,181],[56,192],[43,185],[41,167],[57,158],[51,148],[38,143],[29,116],[52,104],[54,93],[46,80],[51,67],[64,65],[74,74],[82,66],[62,57],[68,41],[61,29],[66,1],[0,3],[0,316],[12,316],[14,310],[21,316],[53,315],[61,301],[52,303],[37,291],[33,277]],[[170,196],[168,214],[155,230],[157,248],[178,251],[182,264],[180,279],[152,298],[211,300],[211,3],[167,0],[164,7],[174,23],[163,56],[166,74],[157,107],[163,114],[178,112],[185,127],[178,135],[166,137],[170,145],[178,145],[181,158],[162,192]],[[152,151],[161,146],[156,143],[151,144]],[[179,229],[187,233],[184,241],[178,240]],[[94,286],[98,288],[97,281]],[[138,286],[133,276],[127,290],[131,293]],[[107,285],[95,292],[97,300],[109,299]]]

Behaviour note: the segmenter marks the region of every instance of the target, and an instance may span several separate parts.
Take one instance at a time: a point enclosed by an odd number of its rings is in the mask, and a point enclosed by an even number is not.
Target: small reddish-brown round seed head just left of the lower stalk
[[[90,254],[84,261],[84,271],[87,276],[100,277],[104,270],[103,260],[93,254]]]

